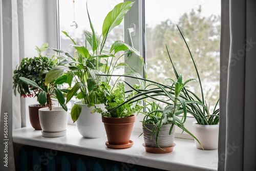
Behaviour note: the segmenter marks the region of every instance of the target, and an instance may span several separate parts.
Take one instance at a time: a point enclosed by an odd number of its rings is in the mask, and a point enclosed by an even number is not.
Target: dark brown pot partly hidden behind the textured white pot
[[[42,130],[39,122],[38,110],[41,108],[46,108],[47,106],[42,106],[41,104],[31,104],[29,105],[29,119],[32,127],[35,130]]]

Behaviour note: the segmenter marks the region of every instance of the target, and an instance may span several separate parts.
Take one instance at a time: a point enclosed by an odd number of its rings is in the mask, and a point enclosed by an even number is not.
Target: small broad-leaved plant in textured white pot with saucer
[[[36,82],[19,77],[20,80],[31,86],[31,88],[38,89],[38,102],[41,105],[46,105],[48,108],[39,109],[39,121],[42,128],[43,137],[61,137],[66,135],[66,127],[68,124],[68,108],[65,104],[65,97],[57,88],[59,82],[64,82],[65,77],[56,79],[51,82],[45,81],[44,88],[40,88]],[[63,79],[63,80],[61,80]],[[46,76],[47,80],[47,76]],[[56,98],[61,107],[52,108],[52,98]]]

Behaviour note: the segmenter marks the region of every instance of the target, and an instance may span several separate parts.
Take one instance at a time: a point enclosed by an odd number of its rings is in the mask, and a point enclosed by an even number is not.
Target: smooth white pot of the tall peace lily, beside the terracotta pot
[[[80,104],[82,107],[80,116],[76,121],[76,126],[79,133],[84,138],[102,138],[106,136],[104,124],[101,121],[100,113],[91,113],[94,108],[88,108],[87,104],[82,104],[81,101],[76,101],[75,104]],[[104,104],[95,104],[101,109],[105,108]]]

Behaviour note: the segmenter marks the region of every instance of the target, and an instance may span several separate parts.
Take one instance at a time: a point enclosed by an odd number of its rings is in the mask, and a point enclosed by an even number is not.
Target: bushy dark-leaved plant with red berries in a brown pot
[[[33,58],[23,58],[20,65],[16,67],[13,75],[13,89],[14,95],[17,92],[22,97],[38,97],[38,88],[29,87],[28,84],[19,79],[19,77],[25,77],[34,81],[37,86],[41,89],[44,88],[45,77],[49,70],[56,66],[56,60],[50,59],[46,56],[42,56],[41,53],[44,52],[48,47],[48,43],[43,44],[40,48],[36,46],[38,52],[38,57]],[[30,89],[31,88],[31,89]],[[32,127],[35,130],[41,130],[39,123],[38,110],[40,108],[46,108],[45,104],[31,104],[29,105],[29,118]]]

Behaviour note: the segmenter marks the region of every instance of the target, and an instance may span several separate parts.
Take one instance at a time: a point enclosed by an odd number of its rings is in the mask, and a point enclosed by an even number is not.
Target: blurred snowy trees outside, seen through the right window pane
[[[175,67],[183,74],[184,79],[197,78],[193,61],[176,27],[178,24],[197,62],[205,99],[215,104],[219,97],[220,16],[204,17],[202,13],[201,8],[191,10],[184,13],[177,23],[167,19],[155,27],[146,27],[147,74],[149,79],[164,84],[169,83],[166,78],[176,77],[167,62],[167,45]],[[201,93],[198,82],[191,82],[189,87],[195,94]]]

